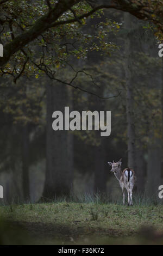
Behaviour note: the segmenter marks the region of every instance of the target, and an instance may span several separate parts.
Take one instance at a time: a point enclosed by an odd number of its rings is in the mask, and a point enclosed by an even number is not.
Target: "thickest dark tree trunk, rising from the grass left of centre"
[[[47,84],[46,179],[42,199],[69,197],[73,182],[73,137],[70,131],[52,129],[52,113],[68,103],[68,89],[62,84]],[[71,109],[70,109],[71,111]]]

